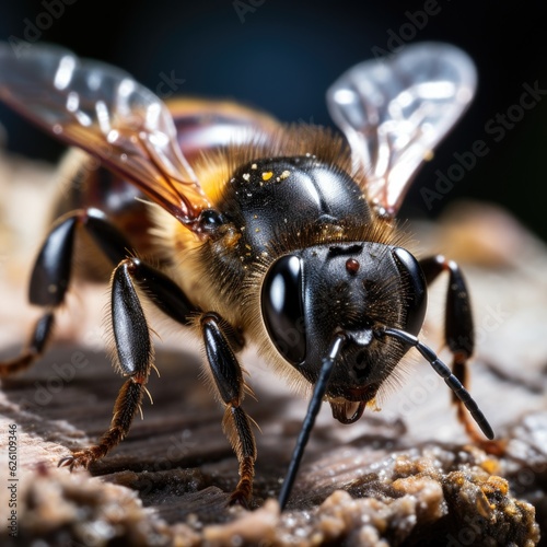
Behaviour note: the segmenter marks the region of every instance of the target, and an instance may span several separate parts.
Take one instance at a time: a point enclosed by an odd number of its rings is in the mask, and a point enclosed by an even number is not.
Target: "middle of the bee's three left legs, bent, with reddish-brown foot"
[[[119,391],[110,427],[98,443],[62,458],[59,466],[88,467],[104,457],[125,439],[140,410],[154,351],[136,286],[142,288],[162,312],[182,324],[187,324],[189,315],[197,311],[181,288],[161,271],[135,257],[119,263],[112,276],[112,326],[117,364],[129,379]]]

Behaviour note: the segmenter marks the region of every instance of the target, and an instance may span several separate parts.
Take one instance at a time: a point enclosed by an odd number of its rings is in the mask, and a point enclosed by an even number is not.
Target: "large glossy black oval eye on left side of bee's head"
[[[276,260],[264,279],[261,310],[277,350],[291,364],[306,356],[302,260],[294,255]]]

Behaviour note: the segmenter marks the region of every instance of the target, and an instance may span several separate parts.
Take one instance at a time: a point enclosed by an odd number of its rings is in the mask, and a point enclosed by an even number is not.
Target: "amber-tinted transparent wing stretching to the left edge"
[[[0,43],[0,100],[100,158],[191,228],[209,202],[166,106],[124,71],[55,46]]]

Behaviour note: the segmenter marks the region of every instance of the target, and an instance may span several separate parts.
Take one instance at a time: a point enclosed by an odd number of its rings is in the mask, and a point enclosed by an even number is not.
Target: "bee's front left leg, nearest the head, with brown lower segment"
[[[230,503],[247,507],[253,492],[256,444],[251,419],[241,407],[245,383],[241,365],[232,349],[234,341],[216,313],[200,317],[201,334],[218,394],[225,405],[222,428],[240,463],[240,481],[230,497]]]

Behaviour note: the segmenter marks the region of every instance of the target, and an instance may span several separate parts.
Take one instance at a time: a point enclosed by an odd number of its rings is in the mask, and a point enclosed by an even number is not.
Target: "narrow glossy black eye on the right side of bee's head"
[[[405,330],[416,336],[423,325],[426,309],[428,306],[426,278],[418,260],[408,251],[403,247],[396,247],[392,253],[407,294]]]

